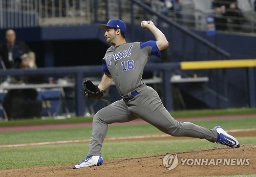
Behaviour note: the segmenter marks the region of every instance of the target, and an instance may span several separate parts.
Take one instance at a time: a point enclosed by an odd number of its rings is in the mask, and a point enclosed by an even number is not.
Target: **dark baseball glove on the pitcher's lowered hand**
[[[103,96],[104,91],[100,91],[99,88],[90,80],[84,80],[82,86],[82,95],[89,99],[98,100]]]

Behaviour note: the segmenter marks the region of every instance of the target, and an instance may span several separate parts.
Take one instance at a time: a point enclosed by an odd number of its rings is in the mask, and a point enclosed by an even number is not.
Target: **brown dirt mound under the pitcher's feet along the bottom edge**
[[[174,152],[172,152],[174,153]],[[74,164],[1,170],[1,176],[200,176],[256,173],[256,144],[177,152],[178,166],[165,170],[166,154],[105,160],[101,166],[73,170]],[[200,165],[199,165],[200,164]]]

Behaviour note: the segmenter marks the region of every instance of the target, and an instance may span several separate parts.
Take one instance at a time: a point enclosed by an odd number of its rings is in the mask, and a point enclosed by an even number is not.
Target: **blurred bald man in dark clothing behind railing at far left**
[[[22,41],[16,41],[13,30],[6,31],[6,40],[0,48],[3,59],[3,69],[28,69],[36,68],[35,54]],[[10,77],[10,83],[31,83],[33,76]],[[3,106],[8,118],[40,117],[41,102],[36,100],[35,89],[9,90],[4,98]]]

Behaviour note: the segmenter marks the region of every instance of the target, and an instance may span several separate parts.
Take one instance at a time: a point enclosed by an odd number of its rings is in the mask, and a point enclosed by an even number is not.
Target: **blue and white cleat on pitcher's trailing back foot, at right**
[[[217,139],[216,143],[226,145],[231,148],[239,148],[240,147],[238,140],[236,138],[232,137],[231,135],[229,135],[224,130],[224,128],[222,128],[221,126],[216,126],[214,128],[218,132],[218,139]]]

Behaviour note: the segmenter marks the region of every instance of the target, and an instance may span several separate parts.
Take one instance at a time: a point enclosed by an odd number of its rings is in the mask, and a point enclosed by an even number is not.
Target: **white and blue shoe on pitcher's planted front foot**
[[[86,159],[83,159],[79,164],[75,165],[73,169],[82,168],[82,167],[90,167],[90,166],[98,166],[103,163],[103,159],[101,156],[87,156]]]

